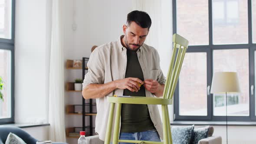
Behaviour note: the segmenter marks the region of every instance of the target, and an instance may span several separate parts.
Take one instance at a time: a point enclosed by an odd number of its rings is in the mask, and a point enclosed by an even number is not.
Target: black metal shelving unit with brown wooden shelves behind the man
[[[82,66],[78,68],[73,67],[74,60],[67,59],[66,61],[66,69],[77,69],[82,70],[82,80],[84,79],[86,70],[88,70],[87,62],[89,58],[82,58]],[[74,82],[66,82],[65,85],[66,92],[79,92],[79,96],[82,97],[82,91],[75,91]],[[78,105],[66,105],[66,115],[78,115],[79,118],[82,116],[82,127],[71,127],[66,128],[66,136],[68,138],[79,138],[79,131],[86,131],[86,136],[94,135],[93,129],[95,127],[92,126],[92,117],[97,115],[97,111],[93,111],[93,107],[96,106],[96,103],[92,102],[92,99],[86,100],[89,102],[85,102],[85,99],[82,97],[82,104]],[[88,121],[89,125],[85,125],[85,121]]]

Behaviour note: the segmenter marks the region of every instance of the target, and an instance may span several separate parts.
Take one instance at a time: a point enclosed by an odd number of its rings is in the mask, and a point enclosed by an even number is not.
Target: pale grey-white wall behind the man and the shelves
[[[89,57],[93,45],[100,46],[118,39],[131,11],[129,0],[66,0],[63,7],[65,59]],[[75,31],[72,23],[77,24]],[[65,70],[65,82],[77,78],[82,78],[81,70]],[[65,92],[65,98],[66,105],[82,104],[80,93]],[[82,117],[66,115],[66,127],[74,126],[82,126]],[[67,142],[75,144],[77,139],[67,138]]]

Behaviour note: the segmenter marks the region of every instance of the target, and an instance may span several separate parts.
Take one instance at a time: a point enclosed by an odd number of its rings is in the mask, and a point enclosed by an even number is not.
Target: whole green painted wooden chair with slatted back
[[[108,101],[111,104],[110,104],[110,111],[108,115],[108,125],[107,125],[106,134],[105,134],[104,144],[110,144],[115,104],[117,104],[117,108],[116,108],[116,115],[115,115],[113,144],[118,144],[118,142],[140,143],[140,144],[172,144],[171,125],[170,125],[170,118],[169,118],[167,105],[172,105],[172,98],[173,98],[177,81],[181,72],[181,65],[183,63],[184,56],[187,51],[188,41],[187,39],[184,39],[182,36],[178,34],[174,34],[173,46],[174,46],[174,49],[172,52],[171,63],[169,66],[167,79],[164,85],[163,98],[138,97],[138,96],[132,96],[131,98],[114,97],[114,96],[108,97]],[[162,119],[163,119],[163,132],[164,132],[163,142],[119,140],[121,104],[162,105]]]

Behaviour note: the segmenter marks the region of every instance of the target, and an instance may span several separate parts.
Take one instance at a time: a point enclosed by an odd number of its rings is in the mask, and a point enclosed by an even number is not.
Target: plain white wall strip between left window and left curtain
[[[46,122],[46,1],[16,0],[15,122]]]

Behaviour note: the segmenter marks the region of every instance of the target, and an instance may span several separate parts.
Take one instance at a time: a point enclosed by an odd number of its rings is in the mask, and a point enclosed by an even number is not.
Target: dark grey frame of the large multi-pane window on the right
[[[256,44],[252,43],[252,1],[248,3],[248,44],[227,44],[213,45],[213,17],[212,17],[212,0],[208,0],[208,17],[209,17],[209,45],[189,46],[187,52],[207,52],[207,86],[211,86],[213,77],[213,50],[217,49],[248,49],[249,56],[249,116],[227,116],[228,121],[256,121],[255,111],[255,51]],[[176,0],[172,1],[173,7],[173,33],[177,33],[177,9]],[[250,87],[254,85],[253,95]],[[207,88],[206,88],[207,90]],[[207,116],[186,116],[179,115],[179,82],[174,92],[174,121],[226,121],[226,116],[213,115],[213,94],[207,95]]]

